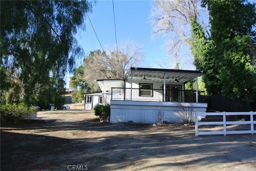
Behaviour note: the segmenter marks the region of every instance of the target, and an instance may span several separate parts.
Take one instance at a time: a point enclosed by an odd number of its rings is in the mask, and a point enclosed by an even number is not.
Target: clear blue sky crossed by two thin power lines
[[[96,49],[102,51],[100,43],[105,50],[107,46],[110,48],[115,47],[116,41],[133,41],[139,47],[142,47],[142,52],[144,53],[143,62],[138,67],[161,68],[154,61],[168,57],[164,49],[164,41],[166,39],[161,36],[152,38],[152,27],[150,25],[152,4],[153,1],[150,0],[114,0],[113,14],[112,0],[98,0],[92,8],[92,13],[88,13],[90,20],[86,17],[86,30],[80,30],[76,35],[78,43],[87,55],[90,51]],[[114,21],[116,23],[116,32]],[[82,60],[77,61],[77,66],[82,65]],[[182,66],[181,69],[195,68],[190,63]],[[67,75],[66,82],[68,82],[68,77],[70,76],[72,75]]]

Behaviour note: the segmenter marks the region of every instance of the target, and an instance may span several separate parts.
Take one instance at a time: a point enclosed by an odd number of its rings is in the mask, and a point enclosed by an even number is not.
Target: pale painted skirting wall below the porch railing
[[[190,105],[188,103],[187,105]],[[205,112],[206,103],[193,103],[194,112]],[[159,110],[164,112],[163,121],[170,123],[181,122],[177,113],[179,103],[177,102],[144,102],[144,101],[121,101],[111,100],[110,102],[110,122],[129,122],[153,124],[157,122],[156,114]]]

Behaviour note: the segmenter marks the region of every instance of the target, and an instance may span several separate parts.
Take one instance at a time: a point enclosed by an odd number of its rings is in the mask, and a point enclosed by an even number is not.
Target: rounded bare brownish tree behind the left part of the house
[[[142,61],[142,49],[134,42],[121,42],[117,47],[90,52],[85,58],[84,77],[94,90],[98,89],[96,79],[125,79],[130,67]]]

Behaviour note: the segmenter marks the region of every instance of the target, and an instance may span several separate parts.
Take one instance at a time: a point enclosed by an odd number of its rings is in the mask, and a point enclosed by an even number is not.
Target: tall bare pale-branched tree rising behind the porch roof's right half
[[[166,51],[173,58],[170,62],[175,62],[175,67],[171,66],[172,68],[177,69],[183,56],[180,53],[184,46],[189,45],[191,19],[198,21],[205,29],[206,34],[209,35],[207,29],[208,13],[200,5],[200,0],[155,0],[152,5],[153,37],[156,35],[167,37]]]

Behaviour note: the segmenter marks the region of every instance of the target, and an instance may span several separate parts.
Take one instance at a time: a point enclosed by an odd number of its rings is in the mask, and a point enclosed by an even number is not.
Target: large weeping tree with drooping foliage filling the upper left
[[[1,87],[13,88],[7,78],[20,73],[24,100],[26,104],[34,103],[40,96],[34,94],[34,86],[45,89],[43,93],[49,89],[48,84],[58,89],[56,81],[64,78],[68,67],[73,69],[76,57],[83,55],[74,36],[78,28],[85,28],[85,15],[91,12],[92,2],[1,1],[0,8]],[[2,72],[2,68],[11,72]],[[44,98],[51,99],[52,94]]]

